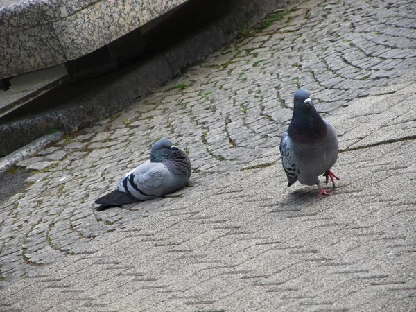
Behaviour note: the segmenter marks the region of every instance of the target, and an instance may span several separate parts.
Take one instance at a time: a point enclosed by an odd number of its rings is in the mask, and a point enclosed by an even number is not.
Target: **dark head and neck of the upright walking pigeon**
[[[288,135],[295,141],[313,142],[327,134],[327,125],[313,106],[309,92],[299,89],[293,97],[293,116],[288,128]]]

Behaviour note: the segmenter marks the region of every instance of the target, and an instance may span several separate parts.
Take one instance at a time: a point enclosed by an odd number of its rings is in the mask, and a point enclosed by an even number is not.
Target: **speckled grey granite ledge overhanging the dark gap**
[[[0,0],[0,78],[83,55],[187,0]]]

